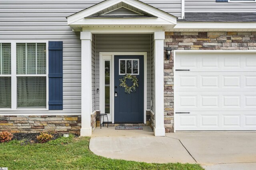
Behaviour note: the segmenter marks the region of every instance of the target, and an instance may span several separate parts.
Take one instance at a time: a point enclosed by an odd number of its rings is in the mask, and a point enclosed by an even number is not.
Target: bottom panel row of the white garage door
[[[256,115],[254,111],[191,111],[176,114],[175,123],[179,131],[255,130]]]

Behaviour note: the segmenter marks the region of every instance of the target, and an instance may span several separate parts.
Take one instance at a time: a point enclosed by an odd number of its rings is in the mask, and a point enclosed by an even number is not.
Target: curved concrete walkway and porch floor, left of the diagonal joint
[[[96,128],[89,147],[95,154],[107,158],[149,163],[196,163],[179,140],[154,137],[150,127],[143,127],[143,130]]]

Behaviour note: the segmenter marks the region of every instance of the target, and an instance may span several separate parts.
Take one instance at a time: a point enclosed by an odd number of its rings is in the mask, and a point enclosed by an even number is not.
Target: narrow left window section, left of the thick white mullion
[[[0,43],[0,108],[11,108],[11,43]]]

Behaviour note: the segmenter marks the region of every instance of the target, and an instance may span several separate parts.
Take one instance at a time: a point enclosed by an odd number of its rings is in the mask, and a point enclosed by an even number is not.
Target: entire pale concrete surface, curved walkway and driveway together
[[[102,127],[94,131],[90,150],[124,160],[199,163],[206,170],[256,169],[254,132],[183,132],[154,137],[150,127],[118,131]]]

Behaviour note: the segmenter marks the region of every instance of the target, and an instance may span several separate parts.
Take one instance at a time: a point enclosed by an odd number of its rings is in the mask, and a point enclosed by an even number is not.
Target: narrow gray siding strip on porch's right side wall
[[[151,35],[151,110],[155,110],[155,84],[154,84],[155,74],[154,74],[154,34]]]

